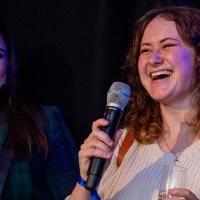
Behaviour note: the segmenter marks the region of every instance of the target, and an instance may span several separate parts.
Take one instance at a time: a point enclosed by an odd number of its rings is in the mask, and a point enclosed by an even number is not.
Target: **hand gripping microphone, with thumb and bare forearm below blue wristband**
[[[90,165],[91,157],[99,157],[109,159],[113,155],[113,151],[122,135],[122,130],[115,134],[115,143],[111,138],[100,130],[103,126],[108,126],[109,122],[105,119],[99,119],[92,125],[92,132],[88,138],[81,145],[79,151],[79,167],[80,175],[84,180],[87,180],[88,167]],[[91,193],[78,183],[68,199],[90,199]]]

